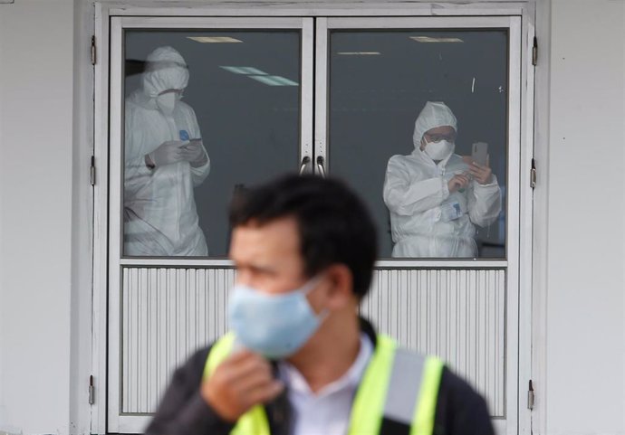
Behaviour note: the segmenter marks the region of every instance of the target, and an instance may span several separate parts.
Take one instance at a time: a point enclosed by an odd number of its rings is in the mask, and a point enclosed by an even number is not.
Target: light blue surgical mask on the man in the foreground
[[[315,315],[306,295],[318,279],[288,293],[268,295],[238,285],[229,304],[230,328],[245,348],[271,359],[296,353],[315,333],[327,311]]]

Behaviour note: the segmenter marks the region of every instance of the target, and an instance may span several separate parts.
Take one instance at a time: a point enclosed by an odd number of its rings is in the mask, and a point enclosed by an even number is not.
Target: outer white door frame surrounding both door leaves
[[[129,2],[130,3],[130,2]],[[286,4],[287,2],[285,2]],[[527,380],[532,378],[532,270],[534,249],[534,191],[529,187],[532,158],[534,156],[534,67],[532,65],[532,41],[534,39],[535,11],[531,2],[476,4],[426,4],[415,2],[371,2],[366,7],[350,2],[302,2],[297,5],[215,2],[192,7],[162,7],[159,2],[151,5],[120,5],[108,1],[95,4],[95,41],[97,62],[94,68],[94,156],[99,169],[98,183],[93,192],[93,303],[91,321],[91,374],[93,374],[94,401],[91,405],[91,433],[106,433],[107,426],[107,380],[109,374],[109,95],[110,95],[110,35],[113,16],[494,16],[517,15],[521,17],[521,155],[519,167],[520,211],[519,231],[523,231],[519,243],[519,299],[518,299],[518,433],[530,433],[531,411],[524,406]],[[530,237],[530,235],[532,235]],[[421,263],[423,265],[423,263]],[[428,266],[437,266],[428,262]]]

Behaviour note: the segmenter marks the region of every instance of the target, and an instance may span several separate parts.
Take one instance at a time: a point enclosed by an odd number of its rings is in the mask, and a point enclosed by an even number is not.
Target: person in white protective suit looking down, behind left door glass
[[[126,99],[124,254],[206,256],[193,189],[210,170],[196,114],[181,101],[187,62],[171,47],[147,58]]]

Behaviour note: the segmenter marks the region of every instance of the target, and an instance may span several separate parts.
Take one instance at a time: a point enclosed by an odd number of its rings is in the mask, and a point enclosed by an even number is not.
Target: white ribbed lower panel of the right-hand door
[[[505,270],[376,270],[361,311],[401,345],[439,355],[505,417]]]

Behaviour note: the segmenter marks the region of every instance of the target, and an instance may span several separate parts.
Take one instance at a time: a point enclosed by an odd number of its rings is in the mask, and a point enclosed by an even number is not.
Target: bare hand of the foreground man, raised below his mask
[[[231,422],[254,405],[272,401],[283,390],[284,384],[274,379],[269,362],[246,349],[229,355],[201,386],[204,400]]]

